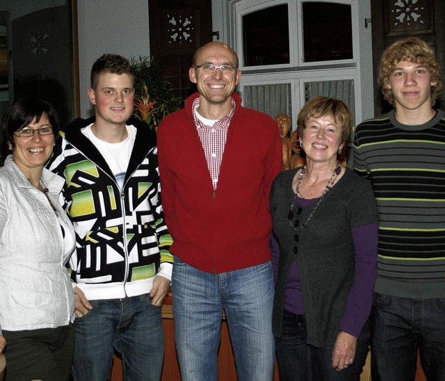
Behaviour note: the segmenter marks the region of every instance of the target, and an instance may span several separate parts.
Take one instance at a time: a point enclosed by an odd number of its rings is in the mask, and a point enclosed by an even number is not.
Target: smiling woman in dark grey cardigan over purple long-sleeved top
[[[351,120],[338,99],[310,99],[297,120],[306,165],[273,182],[280,380],[359,380],[366,359],[378,214],[370,184],[339,163]]]

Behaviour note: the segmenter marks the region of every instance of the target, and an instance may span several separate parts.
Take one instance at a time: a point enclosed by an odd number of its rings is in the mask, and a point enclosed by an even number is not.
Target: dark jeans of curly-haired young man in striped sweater
[[[375,293],[371,316],[373,381],[414,381],[418,349],[426,378],[445,380],[445,298]]]

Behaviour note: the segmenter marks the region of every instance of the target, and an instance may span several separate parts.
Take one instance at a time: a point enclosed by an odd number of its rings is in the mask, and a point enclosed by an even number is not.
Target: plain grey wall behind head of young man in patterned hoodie
[[[105,53],[149,56],[148,0],[77,0],[81,117],[94,110],[88,100],[90,70]]]

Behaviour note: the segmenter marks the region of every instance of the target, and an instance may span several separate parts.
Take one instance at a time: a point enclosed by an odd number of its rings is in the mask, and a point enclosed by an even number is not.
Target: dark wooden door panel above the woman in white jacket
[[[2,2],[2,8],[8,10],[5,3],[12,2]],[[10,102],[29,96],[47,100],[58,111],[63,129],[80,113],[77,1],[57,1],[59,6],[49,8],[31,6],[37,1],[17,3],[20,6],[10,7],[23,8],[19,17],[11,17]]]

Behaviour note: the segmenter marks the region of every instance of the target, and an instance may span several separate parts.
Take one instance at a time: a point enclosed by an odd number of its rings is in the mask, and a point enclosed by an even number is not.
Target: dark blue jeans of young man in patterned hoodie
[[[74,381],[110,380],[113,348],[122,353],[124,380],[160,380],[164,340],[161,307],[148,294],[90,300],[92,310],[76,318]]]

